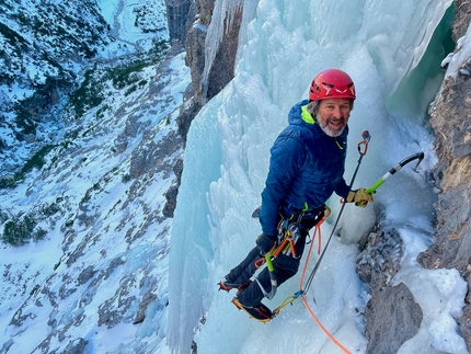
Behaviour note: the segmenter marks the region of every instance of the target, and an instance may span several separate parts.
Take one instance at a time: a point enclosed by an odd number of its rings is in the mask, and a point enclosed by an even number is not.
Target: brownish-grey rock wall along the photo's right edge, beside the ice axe
[[[453,39],[464,36],[471,22],[471,4],[456,1]],[[456,50],[456,52],[457,52]],[[461,331],[471,352],[471,58],[459,64],[456,76],[447,76],[430,105],[429,124],[434,128],[439,162],[433,174],[440,189],[436,241],[420,254],[426,269],[457,269],[468,282]]]

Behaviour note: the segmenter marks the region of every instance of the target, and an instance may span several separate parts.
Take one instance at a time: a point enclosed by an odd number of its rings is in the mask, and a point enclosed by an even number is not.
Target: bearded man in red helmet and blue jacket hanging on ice
[[[365,207],[374,202],[365,189],[352,191],[343,174],[347,150],[348,117],[355,101],[351,77],[338,69],[328,69],[312,80],[309,100],[291,107],[289,125],[279,134],[271,149],[269,171],[259,209],[262,235],[256,247],[219,283],[220,289],[237,289],[236,306],[257,320],[268,320],[271,310],[261,301],[269,292],[271,279],[265,267],[257,282],[251,277],[257,260],[273,250],[283,220],[297,222],[300,231],[294,252],[279,253],[274,260],[278,285],[297,272],[309,230],[325,212],[325,202],[335,192],[347,203]]]

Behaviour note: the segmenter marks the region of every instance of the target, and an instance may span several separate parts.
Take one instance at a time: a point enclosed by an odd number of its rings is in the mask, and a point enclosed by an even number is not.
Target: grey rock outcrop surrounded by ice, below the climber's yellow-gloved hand
[[[423,312],[409,287],[391,279],[401,269],[404,244],[394,225],[384,219],[381,206],[376,230],[358,255],[356,272],[369,289],[371,298],[365,309],[367,354],[397,353],[401,345],[417,334]]]

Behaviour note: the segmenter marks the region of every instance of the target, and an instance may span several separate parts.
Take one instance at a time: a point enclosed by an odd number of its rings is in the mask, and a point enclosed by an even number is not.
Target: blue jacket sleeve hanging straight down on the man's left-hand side
[[[306,150],[296,138],[280,136],[271,152],[269,171],[262,192],[260,222],[263,233],[275,238],[279,204],[289,190],[291,181],[305,164]]]

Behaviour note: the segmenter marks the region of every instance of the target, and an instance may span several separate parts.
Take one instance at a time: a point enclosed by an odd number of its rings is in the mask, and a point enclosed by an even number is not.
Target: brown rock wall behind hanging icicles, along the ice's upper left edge
[[[191,68],[192,84],[187,88],[184,104],[180,112],[179,134],[186,144],[186,135],[193,118],[198,114],[203,105],[219,93],[225,85],[232,80],[236,64],[237,48],[239,44],[239,30],[242,22],[242,8],[236,12],[229,21],[229,14],[223,19],[225,31],[222,39],[216,52],[216,58],[211,64],[206,62],[206,36],[211,23],[215,9],[215,0],[168,0],[169,28],[171,39],[177,39],[185,45],[185,64]],[[228,23],[230,23],[228,25]],[[173,28],[173,30],[172,30]],[[186,28],[182,33],[182,28]],[[214,44],[211,44],[214,45]],[[209,75],[204,80],[203,75],[206,66]],[[183,167],[172,191],[166,194],[168,205],[164,209],[166,216],[173,217],[173,210],[179,194],[180,176]],[[179,169],[179,168],[177,168]]]

